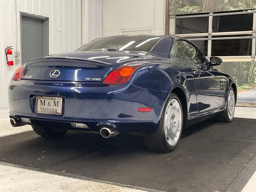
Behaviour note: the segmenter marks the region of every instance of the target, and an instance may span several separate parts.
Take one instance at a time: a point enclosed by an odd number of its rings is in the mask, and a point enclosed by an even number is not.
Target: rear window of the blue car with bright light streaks
[[[149,52],[161,39],[161,36],[113,36],[95,39],[76,51],[100,51],[115,49],[116,51],[145,51]]]

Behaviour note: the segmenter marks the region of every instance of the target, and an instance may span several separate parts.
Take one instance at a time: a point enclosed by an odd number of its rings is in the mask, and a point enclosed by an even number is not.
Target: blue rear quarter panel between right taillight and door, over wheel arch
[[[183,60],[172,59],[171,63],[158,62],[143,65],[130,81],[136,87],[166,92],[167,94],[162,94],[164,97],[158,96],[159,102],[161,102],[159,106],[162,106],[161,111],[170,92],[177,87],[182,89],[185,94],[186,111],[188,113],[198,111],[193,72]]]

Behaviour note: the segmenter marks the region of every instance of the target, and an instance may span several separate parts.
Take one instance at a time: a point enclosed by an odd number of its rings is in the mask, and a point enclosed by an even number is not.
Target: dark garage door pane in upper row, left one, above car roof
[[[175,33],[207,33],[209,17],[176,19]]]

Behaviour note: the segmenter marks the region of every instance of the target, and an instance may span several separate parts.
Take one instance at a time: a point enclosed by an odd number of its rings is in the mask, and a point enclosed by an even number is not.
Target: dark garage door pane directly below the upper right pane
[[[212,56],[252,55],[252,39],[212,40]]]

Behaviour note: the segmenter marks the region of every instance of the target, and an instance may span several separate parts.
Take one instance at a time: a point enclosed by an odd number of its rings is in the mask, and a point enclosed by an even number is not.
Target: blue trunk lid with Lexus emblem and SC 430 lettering
[[[78,58],[52,57],[26,63],[21,79],[102,82],[111,63]]]

